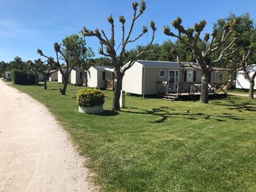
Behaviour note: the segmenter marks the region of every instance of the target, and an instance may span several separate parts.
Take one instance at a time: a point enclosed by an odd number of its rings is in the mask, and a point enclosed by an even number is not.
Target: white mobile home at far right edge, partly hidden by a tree
[[[249,75],[251,76],[253,73],[256,72],[256,64],[248,65],[246,67],[246,70],[249,72]],[[250,81],[245,78],[243,70],[238,70],[237,72],[235,88],[247,90],[250,89]],[[256,84],[254,90],[256,90]]]

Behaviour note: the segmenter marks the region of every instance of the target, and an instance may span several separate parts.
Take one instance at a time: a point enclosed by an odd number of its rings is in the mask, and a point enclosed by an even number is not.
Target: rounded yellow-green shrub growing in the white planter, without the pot
[[[94,107],[96,105],[103,105],[104,102],[105,95],[101,90],[88,88],[78,91],[77,103],[79,106]]]

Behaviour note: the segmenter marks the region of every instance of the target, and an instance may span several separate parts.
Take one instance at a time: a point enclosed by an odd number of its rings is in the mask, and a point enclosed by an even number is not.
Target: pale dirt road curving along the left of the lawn
[[[0,191],[97,191],[46,107],[0,80]]]

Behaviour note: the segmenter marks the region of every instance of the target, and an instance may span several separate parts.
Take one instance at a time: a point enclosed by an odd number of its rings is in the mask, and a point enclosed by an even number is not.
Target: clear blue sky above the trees
[[[136,1],[136,0],[135,0]],[[140,0],[137,0],[138,2]],[[171,39],[165,36],[162,28],[171,26],[178,16],[185,28],[193,27],[194,23],[206,20],[204,33],[211,33],[213,23],[219,18],[227,18],[230,13],[240,16],[249,13],[256,21],[255,0],[145,0],[146,11],[135,23],[133,37],[141,33],[142,26],[149,26],[152,20],[156,24],[154,43],[163,43]],[[53,43],[61,43],[63,38],[78,34],[85,26],[90,30],[98,28],[110,36],[110,23],[107,17],[112,14],[115,25],[115,41],[119,44],[122,36],[118,16],[126,18],[126,28],[130,26],[133,15],[134,0],[0,0],[0,61],[9,63],[16,56],[23,61],[36,60],[41,55],[37,49],[43,50],[48,56],[55,57]],[[171,31],[176,30],[171,27]],[[151,41],[151,30],[139,41],[127,46],[127,49],[146,45]],[[100,43],[95,37],[86,39],[87,46],[95,52]],[[43,59],[43,58],[41,58]]]

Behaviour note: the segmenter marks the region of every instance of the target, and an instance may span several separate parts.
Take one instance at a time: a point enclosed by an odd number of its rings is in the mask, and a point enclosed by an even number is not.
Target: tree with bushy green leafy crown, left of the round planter
[[[80,66],[84,60],[87,60],[87,58],[94,56],[94,53],[92,52],[91,48],[85,47],[85,38],[82,38],[76,34],[65,37],[63,39],[63,45],[54,43],[53,48],[56,53],[56,60],[54,60],[54,58],[51,56],[44,55],[41,49],[38,49],[37,52],[41,56],[47,58],[47,62],[50,65],[56,66],[61,75],[63,75],[64,84],[63,88],[60,89],[60,94],[65,95],[71,70]],[[66,70],[63,69],[63,65],[60,63],[60,60],[65,62]]]

